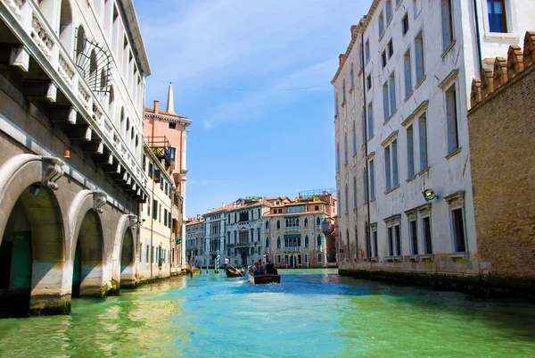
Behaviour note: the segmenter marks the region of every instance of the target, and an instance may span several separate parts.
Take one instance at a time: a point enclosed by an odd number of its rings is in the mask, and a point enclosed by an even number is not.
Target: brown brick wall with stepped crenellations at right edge
[[[474,79],[468,112],[478,256],[492,286],[535,295],[535,32]]]

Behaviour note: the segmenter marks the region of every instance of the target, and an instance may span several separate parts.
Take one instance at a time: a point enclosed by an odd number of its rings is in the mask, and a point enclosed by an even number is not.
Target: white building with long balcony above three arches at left
[[[136,284],[151,68],[130,0],[2,1],[0,42],[2,315],[70,312]]]

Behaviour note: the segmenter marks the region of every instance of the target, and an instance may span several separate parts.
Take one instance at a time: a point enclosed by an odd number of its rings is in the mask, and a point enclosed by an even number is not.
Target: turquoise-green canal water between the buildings
[[[535,304],[282,271],[205,273],[0,320],[0,357],[535,357]]]

